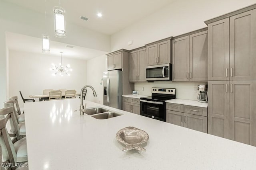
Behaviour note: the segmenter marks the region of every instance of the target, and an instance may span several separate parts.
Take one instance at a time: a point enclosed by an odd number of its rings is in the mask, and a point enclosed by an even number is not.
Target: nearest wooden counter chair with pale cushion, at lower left
[[[0,118],[0,145],[2,146],[3,163],[15,165],[17,162],[28,161],[28,152],[26,137],[13,143],[8,134],[6,123],[12,117],[12,112],[13,107],[0,109],[0,115],[5,115],[4,118]],[[15,167],[11,166],[11,169],[15,169]]]

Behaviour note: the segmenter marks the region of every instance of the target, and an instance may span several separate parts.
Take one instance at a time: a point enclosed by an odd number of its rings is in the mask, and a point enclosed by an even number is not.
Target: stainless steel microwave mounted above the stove
[[[146,66],[146,80],[172,80],[172,64]]]

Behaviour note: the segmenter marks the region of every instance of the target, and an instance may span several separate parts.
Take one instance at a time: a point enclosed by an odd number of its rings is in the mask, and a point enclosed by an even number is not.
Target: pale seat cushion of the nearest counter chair
[[[14,149],[16,151],[17,162],[24,162],[24,161],[28,160],[26,137],[18,140],[13,145],[14,145]]]

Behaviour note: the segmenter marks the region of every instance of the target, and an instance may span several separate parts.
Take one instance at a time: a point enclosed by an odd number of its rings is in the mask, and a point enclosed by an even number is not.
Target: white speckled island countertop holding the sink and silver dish
[[[80,115],[80,99],[24,104],[30,170],[226,170],[255,169],[256,147],[208,135],[141,115],[104,107],[123,115],[95,119]],[[116,140],[128,126],[146,131],[146,152]]]

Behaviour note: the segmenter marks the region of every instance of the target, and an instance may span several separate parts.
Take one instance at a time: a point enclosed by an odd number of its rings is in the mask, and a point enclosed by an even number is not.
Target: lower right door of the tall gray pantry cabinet
[[[230,81],[229,138],[256,146],[256,81]]]

